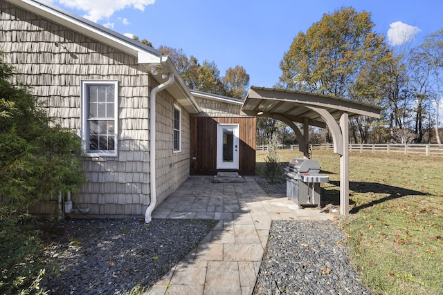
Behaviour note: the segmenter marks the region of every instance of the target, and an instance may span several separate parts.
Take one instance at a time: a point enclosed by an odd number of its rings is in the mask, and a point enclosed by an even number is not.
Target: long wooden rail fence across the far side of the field
[[[257,146],[257,151],[266,151],[266,146]],[[281,144],[279,149],[298,150],[298,144]],[[334,149],[332,144],[313,144],[312,149]],[[443,144],[350,144],[350,151],[443,155]]]

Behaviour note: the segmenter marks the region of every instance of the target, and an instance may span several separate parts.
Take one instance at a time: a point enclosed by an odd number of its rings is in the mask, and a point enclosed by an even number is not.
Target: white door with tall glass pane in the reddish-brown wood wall
[[[238,124],[217,124],[217,169],[238,169]]]

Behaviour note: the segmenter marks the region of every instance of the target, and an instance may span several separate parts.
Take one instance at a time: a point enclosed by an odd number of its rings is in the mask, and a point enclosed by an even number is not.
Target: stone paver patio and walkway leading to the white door
[[[272,220],[328,220],[318,209],[298,209],[284,195],[267,195],[253,178],[213,183],[186,180],[152,218],[220,220],[212,231],[145,294],[242,294],[253,292]]]

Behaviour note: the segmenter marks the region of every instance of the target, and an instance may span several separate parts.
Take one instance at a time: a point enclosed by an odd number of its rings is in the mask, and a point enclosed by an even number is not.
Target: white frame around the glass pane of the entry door
[[[223,129],[227,126],[233,127],[233,162],[223,162]],[[239,124],[217,124],[217,169],[239,168]]]

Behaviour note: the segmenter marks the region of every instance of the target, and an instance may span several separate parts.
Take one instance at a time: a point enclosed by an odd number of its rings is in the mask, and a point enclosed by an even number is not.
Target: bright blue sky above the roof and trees
[[[418,44],[443,29],[442,0],[46,0],[121,34],[182,48],[215,61],[221,76],[236,65],[250,86],[273,87],[280,61],[298,32],[341,7],[371,12],[379,34],[395,48]],[[401,23],[399,23],[401,22]],[[404,37],[411,41],[404,44]],[[399,39],[400,38],[400,39]],[[407,39],[407,38],[406,38]]]

